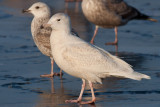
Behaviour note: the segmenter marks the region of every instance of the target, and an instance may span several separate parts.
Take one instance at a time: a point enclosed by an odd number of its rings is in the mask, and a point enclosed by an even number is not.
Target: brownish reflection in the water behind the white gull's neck
[[[72,27],[75,31],[78,32],[80,38],[90,41],[92,37],[92,25],[91,23],[84,17],[82,10],[80,9],[79,1],[72,3],[72,2],[65,2],[65,13],[68,14],[71,18]],[[75,4],[75,6],[73,6]],[[68,8],[69,5],[69,8]]]

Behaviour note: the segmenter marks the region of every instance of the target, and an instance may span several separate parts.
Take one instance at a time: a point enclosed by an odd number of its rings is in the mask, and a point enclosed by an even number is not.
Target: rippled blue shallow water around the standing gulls
[[[107,78],[103,85],[96,84],[95,105],[66,104],[76,99],[81,80],[64,73],[59,77],[41,78],[50,72],[50,59],[36,48],[30,32],[32,16],[22,14],[38,0],[0,0],[0,106],[1,107],[159,107],[160,106],[160,23],[131,21],[119,27],[118,52],[105,42],[114,40],[113,29],[99,29],[95,44],[118,55],[133,66],[135,71],[151,76],[151,80]],[[81,38],[91,39],[94,25],[89,23],[80,3],[64,0],[39,0],[50,4],[53,13],[66,12],[72,26]],[[126,0],[143,13],[160,19],[160,2],[157,0]],[[68,5],[68,8],[66,7]],[[76,6],[79,6],[76,8]],[[59,72],[57,66],[55,72]],[[90,100],[87,86],[83,100]]]

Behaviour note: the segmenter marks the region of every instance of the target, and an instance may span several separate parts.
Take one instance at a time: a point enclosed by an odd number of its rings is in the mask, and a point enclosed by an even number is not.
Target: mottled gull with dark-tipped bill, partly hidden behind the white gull
[[[51,74],[44,74],[41,77],[53,77],[62,76],[62,70],[60,73],[53,72],[53,64],[54,59],[51,54],[51,46],[50,46],[50,35],[51,35],[51,28],[42,28],[42,25],[47,23],[50,19],[51,12],[50,8],[47,4],[43,2],[34,3],[28,10],[23,10],[23,13],[31,13],[34,15],[34,18],[31,23],[31,32],[33,40],[38,47],[38,49],[46,56],[49,56],[51,59]],[[72,33],[77,35],[74,30],[72,29]]]

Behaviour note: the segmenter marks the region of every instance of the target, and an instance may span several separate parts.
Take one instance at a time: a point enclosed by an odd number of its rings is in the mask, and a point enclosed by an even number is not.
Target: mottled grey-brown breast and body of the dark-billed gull
[[[51,55],[51,46],[50,46],[50,34],[51,28],[41,28],[45,24],[47,19],[33,19],[31,24],[31,31],[33,40],[38,47],[38,49],[46,56],[52,57]]]

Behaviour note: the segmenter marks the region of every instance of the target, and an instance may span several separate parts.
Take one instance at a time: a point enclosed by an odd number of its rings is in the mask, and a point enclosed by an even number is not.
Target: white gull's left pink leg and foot
[[[80,92],[80,95],[79,95],[78,99],[77,100],[66,100],[65,101],[66,103],[79,103],[79,102],[81,102],[82,95],[83,95],[83,92],[84,92],[84,89],[85,89],[85,86],[86,86],[85,80],[82,79],[82,82],[83,82],[82,83],[82,88],[81,88],[81,92]]]

